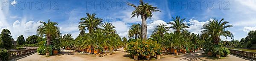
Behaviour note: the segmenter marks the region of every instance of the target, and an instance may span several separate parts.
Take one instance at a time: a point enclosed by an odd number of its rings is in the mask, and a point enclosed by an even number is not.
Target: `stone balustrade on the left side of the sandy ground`
[[[8,53],[9,59],[18,58],[24,55],[28,55],[30,53],[36,52],[36,49],[21,49],[21,50],[9,50]]]

